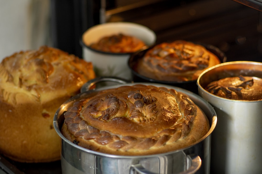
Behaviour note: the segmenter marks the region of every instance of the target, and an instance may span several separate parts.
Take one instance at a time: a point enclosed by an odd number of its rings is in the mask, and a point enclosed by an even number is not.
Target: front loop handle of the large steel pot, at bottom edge
[[[199,168],[201,167],[201,158],[199,156],[196,155],[188,155],[188,162],[191,163],[190,167],[182,172],[176,173],[176,174],[194,174],[196,173]],[[131,174],[132,171],[136,171],[139,174],[156,174],[153,172],[150,172],[148,170],[146,170],[140,163],[138,164],[133,164],[131,165],[130,169],[129,169],[129,174]]]

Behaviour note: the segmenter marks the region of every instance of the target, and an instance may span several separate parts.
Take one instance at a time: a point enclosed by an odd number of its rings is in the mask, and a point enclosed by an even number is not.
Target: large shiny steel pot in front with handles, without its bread
[[[117,79],[117,80],[116,80]],[[91,89],[96,86],[98,82],[114,81],[121,84],[101,87],[99,89]],[[217,117],[212,106],[198,95],[182,88],[162,85],[158,83],[139,83],[144,85],[154,85],[157,87],[166,87],[175,89],[178,92],[187,94],[190,99],[198,105],[208,117],[210,123],[210,130],[199,141],[189,145],[185,148],[170,151],[162,154],[140,155],[140,156],[125,156],[112,155],[92,151],[80,147],[61,133],[61,127],[64,122],[63,113],[67,111],[69,106],[78,100],[86,97],[95,96],[97,92],[102,89],[115,88],[119,86],[134,85],[136,83],[128,83],[126,80],[116,77],[100,77],[89,81],[82,87],[82,92],[77,96],[69,99],[57,110],[54,116],[54,127],[61,138],[61,166],[63,174],[71,173],[88,173],[88,174],[126,174],[126,173],[140,173],[140,174],[186,174],[186,173],[210,173],[210,144],[211,133],[213,132]],[[90,89],[86,91],[86,89]]]

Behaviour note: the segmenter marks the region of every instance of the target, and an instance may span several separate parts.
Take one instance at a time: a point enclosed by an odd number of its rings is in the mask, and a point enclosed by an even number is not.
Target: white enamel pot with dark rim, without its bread
[[[112,53],[96,50],[91,47],[91,44],[98,42],[103,37],[120,33],[126,36],[133,36],[143,41],[145,46],[142,47],[141,50],[150,47],[155,44],[156,41],[154,31],[136,23],[110,22],[90,27],[83,33],[80,44],[83,48],[83,59],[93,63],[95,73],[98,77],[116,76],[128,80],[132,79],[127,62],[130,55],[134,52]],[[125,47],[128,47],[128,45]]]

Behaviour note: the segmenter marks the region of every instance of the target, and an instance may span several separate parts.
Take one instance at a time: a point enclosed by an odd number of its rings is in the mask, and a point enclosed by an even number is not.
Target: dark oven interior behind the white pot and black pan
[[[86,29],[99,23],[129,21],[155,31],[157,43],[183,39],[212,44],[225,52],[227,61],[262,60],[261,12],[250,3],[244,5],[232,0],[66,0],[52,1],[52,9],[53,43],[79,57],[82,56],[79,38]],[[64,35],[71,41],[65,42]]]

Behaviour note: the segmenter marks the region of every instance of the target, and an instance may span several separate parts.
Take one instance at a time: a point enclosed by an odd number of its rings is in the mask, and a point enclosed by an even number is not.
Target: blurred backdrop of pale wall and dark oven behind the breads
[[[0,1],[0,60],[21,50],[53,46],[82,58],[89,27],[129,21],[155,31],[157,42],[183,39],[212,44],[228,61],[262,61],[260,7],[233,0]]]

